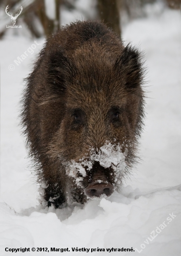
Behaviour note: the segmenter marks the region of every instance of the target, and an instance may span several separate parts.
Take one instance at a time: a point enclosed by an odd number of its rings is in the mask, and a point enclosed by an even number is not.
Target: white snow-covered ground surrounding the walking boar
[[[151,12],[152,13],[152,12]],[[133,248],[121,255],[180,256],[181,254],[181,79],[180,12],[134,20],[123,28],[126,42],[145,51],[147,118],[141,140],[142,162],[121,193],[89,201],[73,209],[42,210],[36,178],[28,168],[20,128],[19,101],[23,78],[30,72],[42,40],[10,32],[0,41],[1,64],[1,199],[0,256],[5,248],[30,248],[24,255],[110,255],[107,249]],[[34,44],[34,53],[27,49]],[[27,51],[17,66],[13,60]],[[32,53],[32,54],[31,54]],[[13,64],[15,69],[9,70]],[[13,66],[9,67],[13,69]],[[33,252],[47,248],[49,252]],[[96,249],[91,253],[91,249]],[[105,249],[99,251],[98,249]],[[119,255],[120,252],[111,252]],[[21,252],[16,252],[21,255]]]

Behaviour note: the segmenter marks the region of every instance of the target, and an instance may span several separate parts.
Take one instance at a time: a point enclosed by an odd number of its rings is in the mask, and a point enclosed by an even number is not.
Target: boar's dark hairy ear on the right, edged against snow
[[[120,79],[124,80],[126,88],[134,89],[142,84],[144,71],[141,61],[141,53],[134,47],[127,45],[115,62],[114,70]]]

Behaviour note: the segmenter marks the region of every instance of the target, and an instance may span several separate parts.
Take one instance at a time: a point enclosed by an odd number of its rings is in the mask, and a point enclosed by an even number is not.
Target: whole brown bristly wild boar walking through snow
[[[97,21],[52,35],[27,77],[22,126],[48,206],[119,189],[136,162],[144,117],[143,69]]]

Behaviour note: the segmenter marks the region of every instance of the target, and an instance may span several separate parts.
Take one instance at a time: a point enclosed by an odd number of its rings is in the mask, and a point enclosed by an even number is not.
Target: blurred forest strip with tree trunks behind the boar
[[[7,33],[12,20],[9,14],[22,13],[15,25],[22,25],[32,37],[39,38],[54,33],[61,24],[62,10],[74,13],[74,19],[102,20],[121,34],[121,25],[147,15],[146,6],[162,2],[163,6],[179,9],[181,0],[0,0],[0,39]],[[25,31],[25,30],[23,30]],[[27,35],[27,33],[24,33]]]

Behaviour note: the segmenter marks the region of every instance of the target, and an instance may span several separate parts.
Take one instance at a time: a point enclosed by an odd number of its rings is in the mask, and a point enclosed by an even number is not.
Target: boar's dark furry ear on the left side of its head
[[[73,80],[74,74],[74,65],[63,50],[49,53],[48,82],[56,93],[62,93],[66,89],[67,83]]]

